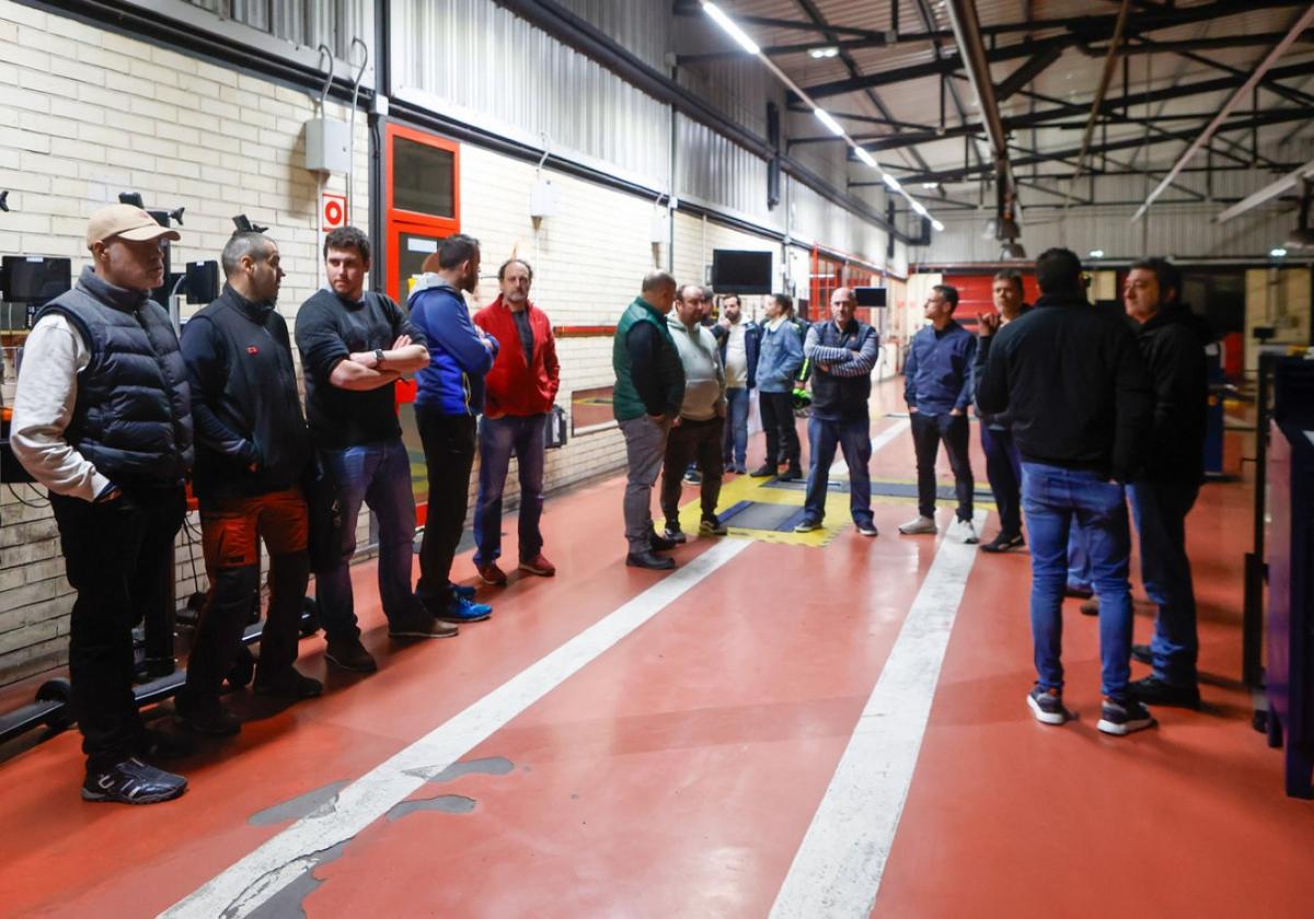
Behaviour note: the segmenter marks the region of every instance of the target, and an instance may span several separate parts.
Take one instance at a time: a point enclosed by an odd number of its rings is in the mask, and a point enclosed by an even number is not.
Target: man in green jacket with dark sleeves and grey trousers
[[[611,365],[616,370],[612,410],[625,436],[629,481],[625,483],[625,565],[639,568],[674,568],[657,555],[674,547],[657,536],[652,519],[652,491],[666,454],[666,436],[679,421],[685,400],[685,369],[666,327],[675,302],[675,278],[649,272],[643,291],[625,307],[616,324]]]

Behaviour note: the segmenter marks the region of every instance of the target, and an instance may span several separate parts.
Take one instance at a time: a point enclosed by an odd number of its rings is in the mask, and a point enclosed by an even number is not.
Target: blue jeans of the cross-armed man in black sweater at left
[[[325,635],[331,641],[360,635],[351,592],[351,557],[356,551],[356,517],[368,504],[378,520],[378,599],[390,625],[423,620],[424,610],[411,591],[411,555],[415,540],[415,495],[410,460],[401,438],[344,450],[321,450],[325,471],[342,502],[342,551],[334,566],[315,571],[315,600]]]

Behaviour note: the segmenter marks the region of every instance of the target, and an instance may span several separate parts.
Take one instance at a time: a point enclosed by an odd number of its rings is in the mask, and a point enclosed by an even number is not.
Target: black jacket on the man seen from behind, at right
[[[976,403],[1012,412],[1024,460],[1118,482],[1139,469],[1154,399],[1123,319],[1079,294],[1047,294],[982,339],[976,361]]]

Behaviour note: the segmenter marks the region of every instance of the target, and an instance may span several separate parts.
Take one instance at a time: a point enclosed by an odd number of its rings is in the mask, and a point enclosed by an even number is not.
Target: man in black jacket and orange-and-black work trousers
[[[260,538],[269,549],[269,612],[255,692],[300,700],[318,680],[298,673],[301,601],[310,578],[301,477],[310,435],[297,398],[288,324],[273,309],[284,273],[279,247],[235,232],[223,247],[227,284],[183,332],[196,415],[196,481],[210,592],[177,708],[201,734],[237,734],[219,688],[260,589]]]

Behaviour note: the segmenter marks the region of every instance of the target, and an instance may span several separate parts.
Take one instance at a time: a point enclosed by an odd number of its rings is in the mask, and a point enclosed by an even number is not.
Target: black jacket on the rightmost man
[[[1188,307],[1160,310],[1137,328],[1137,344],[1154,385],[1154,427],[1138,479],[1201,482],[1213,333]]]

